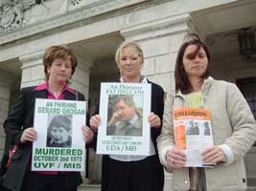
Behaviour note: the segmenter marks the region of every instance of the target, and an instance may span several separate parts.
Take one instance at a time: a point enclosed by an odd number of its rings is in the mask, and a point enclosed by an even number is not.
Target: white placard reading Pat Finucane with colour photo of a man
[[[102,83],[97,154],[150,154],[151,84]]]

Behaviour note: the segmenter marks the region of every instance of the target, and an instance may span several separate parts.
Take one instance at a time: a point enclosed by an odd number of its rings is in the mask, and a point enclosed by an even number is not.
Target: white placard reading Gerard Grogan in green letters
[[[33,171],[84,171],[86,102],[35,99]]]

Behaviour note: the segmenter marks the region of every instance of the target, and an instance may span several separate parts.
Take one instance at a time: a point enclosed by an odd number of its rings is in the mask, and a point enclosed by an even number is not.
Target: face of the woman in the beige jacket
[[[188,46],[183,56],[183,66],[188,77],[201,77],[208,67],[209,60],[203,48],[194,56],[197,48],[196,45]]]

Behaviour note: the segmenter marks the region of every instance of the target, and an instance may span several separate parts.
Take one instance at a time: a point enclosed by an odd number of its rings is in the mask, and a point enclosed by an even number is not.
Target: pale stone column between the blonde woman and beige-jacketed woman
[[[142,74],[161,85],[165,92],[175,91],[175,59],[184,36],[195,32],[188,14],[180,14],[121,31],[126,41],[138,42],[144,52]],[[171,191],[172,174],[165,172],[165,191]]]

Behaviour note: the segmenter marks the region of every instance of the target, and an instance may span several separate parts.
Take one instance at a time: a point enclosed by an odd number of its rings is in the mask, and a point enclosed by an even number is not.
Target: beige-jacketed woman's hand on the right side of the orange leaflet
[[[217,164],[220,162],[226,162],[225,154],[219,145],[209,147],[203,151],[202,159],[204,163]]]

